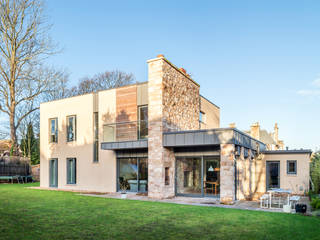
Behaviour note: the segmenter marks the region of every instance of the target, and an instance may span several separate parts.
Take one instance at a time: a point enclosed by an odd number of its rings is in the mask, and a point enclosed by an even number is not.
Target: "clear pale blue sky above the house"
[[[147,80],[164,54],[221,108],[221,127],[259,121],[290,148],[320,147],[320,1],[47,2],[50,63],[73,84],[105,70]]]

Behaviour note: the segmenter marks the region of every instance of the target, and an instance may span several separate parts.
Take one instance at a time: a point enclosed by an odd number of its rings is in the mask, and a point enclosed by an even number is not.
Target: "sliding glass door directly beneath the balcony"
[[[147,158],[118,158],[118,191],[148,191]]]

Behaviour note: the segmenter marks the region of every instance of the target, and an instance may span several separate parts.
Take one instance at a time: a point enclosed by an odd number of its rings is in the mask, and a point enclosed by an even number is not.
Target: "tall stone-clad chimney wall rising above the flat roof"
[[[148,67],[148,196],[168,198],[175,195],[175,157],[162,145],[163,132],[199,129],[199,85],[164,57],[149,60]]]

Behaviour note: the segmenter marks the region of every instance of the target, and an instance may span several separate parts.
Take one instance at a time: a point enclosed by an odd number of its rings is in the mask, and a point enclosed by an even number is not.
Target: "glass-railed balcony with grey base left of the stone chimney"
[[[103,126],[105,150],[147,148],[148,121],[131,121],[110,123]]]

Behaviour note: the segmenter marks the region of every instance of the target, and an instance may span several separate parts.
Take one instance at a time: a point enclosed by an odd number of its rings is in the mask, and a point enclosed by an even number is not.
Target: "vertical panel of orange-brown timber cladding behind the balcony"
[[[116,129],[117,141],[137,139],[137,86],[129,86],[116,90]],[[129,123],[131,122],[131,123]]]

